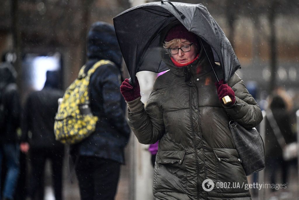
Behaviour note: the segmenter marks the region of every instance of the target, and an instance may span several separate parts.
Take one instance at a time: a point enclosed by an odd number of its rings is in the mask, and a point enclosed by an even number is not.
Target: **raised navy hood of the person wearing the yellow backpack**
[[[89,60],[106,59],[121,66],[122,54],[113,25],[95,22],[88,32],[86,48]]]

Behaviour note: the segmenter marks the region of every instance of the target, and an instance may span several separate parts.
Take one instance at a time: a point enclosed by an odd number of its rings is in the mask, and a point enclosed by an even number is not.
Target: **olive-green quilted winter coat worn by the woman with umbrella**
[[[209,51],[208,51],[209,52]],[[210,54],[209,54],[210,55]],[[210,57],[210,56],[209,56]],[[159,76],[147,101],[128,102],[129,125],[142,144],[159,140],[153,193],[156,199],[251,199],[247,178],[228,128],[230,117],[246,128],[257,126],[262,113],[237,74],[228,81],[237,103],[219,102],[207,56],[201,46],[199,59],[176,67],[164,56],[170,71]],[[219,67],[215,64],[214,68]],[[214,182],[203,190],[205,179]],[[242,188],[217,188],[217,182]]]

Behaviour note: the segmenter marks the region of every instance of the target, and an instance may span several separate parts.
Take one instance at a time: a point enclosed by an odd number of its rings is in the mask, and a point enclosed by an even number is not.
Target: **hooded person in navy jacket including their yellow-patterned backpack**
[[[78,79],[65,92],[54,128],[57,139],[71,144],[70,152],[75,163],[81,199],[110,200],[116,194],[120,165],[124,163],[124,147],[130,136],[125,119],[126,103],[119,90],[122,55],[112,25],[95,22],[91,26],[87,37],[87,57],[88,61]],[[87,91],[81,91],[84,84],[88,84]],[[74,91],[77,91],[77,96]],[[83,100],[81,97],[84,97]],[[75,98],[79,98],[78,101],[84,105],[72,103]],[[79,108],[74,113],[68,113],[74,108],[70,104]],[[63,119],[63,116],[69,120]],[[92,119],[90,124],[87,124],[90,121],[84,121],[88,116]],[[78,128],[65,131],[65,134],[78,134],[84,139],[61,140],[61,132],[68,128],[63,123],[71,123],[73,119],[74,124],[70,127]],[[93,131],[87,133],[88,130]]]

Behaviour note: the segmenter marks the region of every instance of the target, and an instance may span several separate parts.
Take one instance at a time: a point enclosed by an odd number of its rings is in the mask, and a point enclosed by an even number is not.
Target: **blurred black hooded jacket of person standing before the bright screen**
[[[58,99],[63,96],[63,91],[59,89],[58,77],[57,72],[48,71],[44,88],[30,93],[25,102],[21,142],[29,142],[30,148],[63,149],[63,145],[56,141],[53,129]]]

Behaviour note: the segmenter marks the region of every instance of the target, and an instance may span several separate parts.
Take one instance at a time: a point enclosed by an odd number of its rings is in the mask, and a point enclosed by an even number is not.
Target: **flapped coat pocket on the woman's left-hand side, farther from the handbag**
[[[185,151],[158,151],[154,172],[155,191],[186,191]]]

